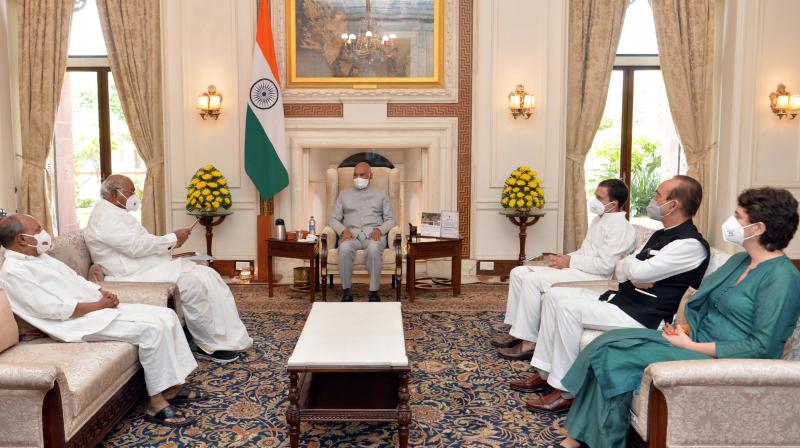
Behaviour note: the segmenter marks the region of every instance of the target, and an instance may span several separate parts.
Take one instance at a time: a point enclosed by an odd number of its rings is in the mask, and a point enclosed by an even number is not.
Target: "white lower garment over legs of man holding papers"
[[[176,282],[186,327],[195,343],[206,352],[244,350],[253,345],[236,301],[217,271],[194,265]]]

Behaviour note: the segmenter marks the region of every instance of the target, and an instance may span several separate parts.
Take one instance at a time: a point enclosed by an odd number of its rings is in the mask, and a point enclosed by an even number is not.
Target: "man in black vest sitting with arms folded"
[[[538,373],[512,387],[530,391],[549,385],[556,390],[529,399],[529,408],[558,412],[572,404],[561,379],[578,356],[585,328],[655,329],[672,320],[686,289],[700,286],[708,267],[708,242],[692,223],[702,198],[702,187],[688,176],[675,176],[658,186],[647,213],[662,221],[664,228],[617,263],[619,291],[550,290],[531,360]]]

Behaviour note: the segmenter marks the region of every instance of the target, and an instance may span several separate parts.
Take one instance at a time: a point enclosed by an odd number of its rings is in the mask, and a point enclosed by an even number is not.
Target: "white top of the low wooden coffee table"
[[[316,302],[289,367],[407,367],[399,302]]]

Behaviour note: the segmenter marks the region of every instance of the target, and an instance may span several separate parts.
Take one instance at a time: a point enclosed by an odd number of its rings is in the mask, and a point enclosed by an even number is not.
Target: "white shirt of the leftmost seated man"
[[[106,308],[73,318],[78,303],[100,300],[100,286],[47,254],[32,257],[6,250],[5,257],[0,283],[6,289],[11,309],[49,336],[80,342],[119,315],[118,310]]]

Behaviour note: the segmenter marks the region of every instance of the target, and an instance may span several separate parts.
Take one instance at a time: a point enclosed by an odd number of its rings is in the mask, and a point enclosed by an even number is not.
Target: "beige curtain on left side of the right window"
[[[628,0],[570,0],[564,252],[586,235],[583,164],[600,126]]]

